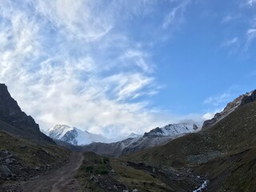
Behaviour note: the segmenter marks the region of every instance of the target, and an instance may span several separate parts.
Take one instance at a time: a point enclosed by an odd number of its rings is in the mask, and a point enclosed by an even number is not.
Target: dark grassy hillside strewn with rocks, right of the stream
[[[127,157],[165,169],[186,169],[210,180],[207,191],[256,191],[256,102],[210,129]]]

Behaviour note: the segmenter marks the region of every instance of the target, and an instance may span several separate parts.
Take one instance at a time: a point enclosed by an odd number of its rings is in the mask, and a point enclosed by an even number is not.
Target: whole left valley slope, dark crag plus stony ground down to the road
[[[26,181],[57,168],[69,153],[42,134],[34,119],[0,84],[0,191],[11,191],[8,185],[12,182]]]

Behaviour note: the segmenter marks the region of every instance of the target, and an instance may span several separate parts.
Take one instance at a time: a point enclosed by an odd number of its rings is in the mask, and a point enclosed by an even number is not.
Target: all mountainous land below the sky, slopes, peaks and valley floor
[[[242,94],[202,130],[183,121],[120,142],[90,143],[99,135],[51,129],[53,138],[75,145],[86,135],[90,145],[77,153],[42,134],[0,84],[0,191],[255,191],[255,101],[256,90]]]

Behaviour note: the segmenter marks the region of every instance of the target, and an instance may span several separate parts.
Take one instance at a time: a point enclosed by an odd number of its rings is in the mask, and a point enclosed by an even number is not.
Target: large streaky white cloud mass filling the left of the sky
[[[0,5],[0,81],[43,129],[66,123],[115,137],[170,123],[148,106],[161,87],[151,54],[118,30],[154,2],[19,3]]]

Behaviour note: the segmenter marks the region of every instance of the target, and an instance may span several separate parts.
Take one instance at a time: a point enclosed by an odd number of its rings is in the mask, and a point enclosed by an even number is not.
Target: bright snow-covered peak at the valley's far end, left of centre
[[[72,145],[88,145],[92,142],[108,142],[100,134],[91,134],[86,130],[79,130],[75,127],[66,125],[56,125],[49,130],[50,138],[58,139],[63,142],[68,142]]]

